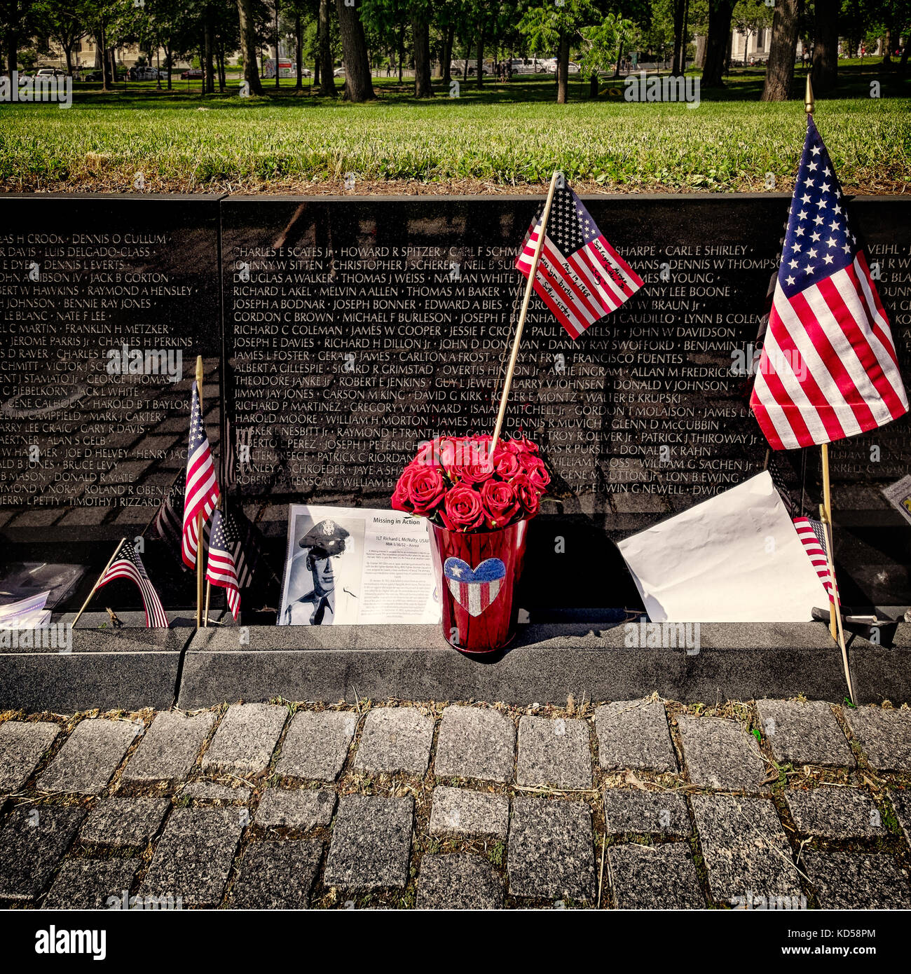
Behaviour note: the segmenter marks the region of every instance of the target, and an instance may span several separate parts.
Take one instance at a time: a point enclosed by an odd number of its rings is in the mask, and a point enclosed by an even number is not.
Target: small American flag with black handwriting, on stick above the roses
[[[541,234],[535,217],[515,267],[527,278]],[[556,319],[578,338],[589,324],[619,308],[642,279],[604,239],[582,200],[565,183],[553,192],[535,291]]]

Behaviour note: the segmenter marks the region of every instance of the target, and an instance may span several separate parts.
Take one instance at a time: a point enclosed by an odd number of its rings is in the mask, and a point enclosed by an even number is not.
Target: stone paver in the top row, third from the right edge
[[[722,717],[677,717],[690,780],[719,791],[763,789],[766,765],[756,738],[740,721]]]

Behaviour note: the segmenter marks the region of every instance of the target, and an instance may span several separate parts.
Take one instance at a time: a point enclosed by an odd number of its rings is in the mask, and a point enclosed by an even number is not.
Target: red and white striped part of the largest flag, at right
[[[862,251],[790,299],[776,283],[750,408],[776,450],[875,430],[908,411],[889,320]]]

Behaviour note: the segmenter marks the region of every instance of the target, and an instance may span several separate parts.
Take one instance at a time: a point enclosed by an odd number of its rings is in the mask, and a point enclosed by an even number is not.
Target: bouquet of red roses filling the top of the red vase
[[[496,531],[538,513],[550,476],[525,438],[437,436],[401,473],[392,506],[447,531]]]

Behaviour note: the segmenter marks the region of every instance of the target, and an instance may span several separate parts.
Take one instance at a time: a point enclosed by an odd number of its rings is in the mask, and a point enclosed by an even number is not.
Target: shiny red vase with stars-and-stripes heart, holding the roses
[[[495,653],[512,642],[527,525],[465,533],[428,524],[443,636],[462,653]]]

